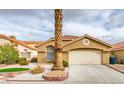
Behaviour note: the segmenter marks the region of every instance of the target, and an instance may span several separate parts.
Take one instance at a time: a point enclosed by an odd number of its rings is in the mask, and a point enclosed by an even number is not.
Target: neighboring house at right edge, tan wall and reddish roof
[[[111,48],[111,54],[116,56],[117,63],[124,60],[124,42],[114,44]]]

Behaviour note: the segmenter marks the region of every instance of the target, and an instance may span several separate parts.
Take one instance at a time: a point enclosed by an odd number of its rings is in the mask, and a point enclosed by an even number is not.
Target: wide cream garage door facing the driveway
[[[99,50],[80,49],[69,52],[69,64],[101,64],[102,52]]]

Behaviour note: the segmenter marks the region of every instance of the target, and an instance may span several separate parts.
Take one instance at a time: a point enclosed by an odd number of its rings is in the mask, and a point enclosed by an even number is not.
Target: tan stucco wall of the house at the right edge
[[[120,61],[124,59],[124,50],[112,51],[112,54],[116,56],[117,63],[120,63]]]

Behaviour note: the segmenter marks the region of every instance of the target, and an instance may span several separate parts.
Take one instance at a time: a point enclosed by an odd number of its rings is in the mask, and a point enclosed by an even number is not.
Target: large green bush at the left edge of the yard
[[[13,64],[19,59],[19,53],[12,45],[0,46],[0,64]]]

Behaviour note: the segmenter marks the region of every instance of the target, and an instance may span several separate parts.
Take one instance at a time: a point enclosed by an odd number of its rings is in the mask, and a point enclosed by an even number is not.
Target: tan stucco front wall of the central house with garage
[[[88,38],[89,39],[89,38]],[[74,43],[71,43],[65,47],[63,47],[63,60],[68,62],[69,56],[69,50],[72,49],[99,49],[103,52],[102,54],[102,64],[108,64],[109,63],[109,57],[110,57],[110,47],[107,45],[104,45],[102,43],[99,43],[97,41],[94,41],[92,39],[89,39],[90,43],[89,45],[83,45],[82,40],[78,40]],[[53,45],[54,46],[54,41],[50,41],[42,46],[40,46],[38,49],[40,50],[40,52],[38,53],[38,61],[39,62],[45,62],[45,58],[46,58],[46,47],[49,45]],[[42,53],[41,53],[42,52]]]

